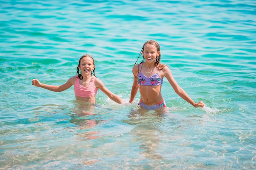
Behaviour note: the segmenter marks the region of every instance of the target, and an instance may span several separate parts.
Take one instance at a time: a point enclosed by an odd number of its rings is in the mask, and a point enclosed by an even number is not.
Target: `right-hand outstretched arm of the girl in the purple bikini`
[[[173,87],[173,90],[177,95],[179,95],[182,99],[184,99],[186,102],[190,103],[195,108],[198,107],[204,107],[204,103],[200,101],[199,103],[195,103],[189,95],[186,94],[186,92],[177,84],[176,80],[173,78],[173,75],[171,73],[171,70],[168,67],[163,68],[164,76],[167,78],[168,82]]]

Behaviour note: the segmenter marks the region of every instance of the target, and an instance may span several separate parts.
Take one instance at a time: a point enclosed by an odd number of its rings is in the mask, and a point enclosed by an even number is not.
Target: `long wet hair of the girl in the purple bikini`
[[[138,66],[139,66],[139,64],[141,64],[141,63],[143,63],[143,62],[145,61],[145,58],[144,58],[144,56],[142,55],[142,52],[144,51],[144,46],[145,46],[146,44],[153,45],[153,46],[155,46],[155,47],[157,48],[157,52],[160,51],[160,45],[159,45],[155,40],[148,40],[148,41],[145,42],[144,45],[142,46],[142,49],[141,49],[141,51],[140,51],[140,53],[139,53],[139,57],[137,58],[137,60],[136,60],[136,62],[135,62],[134,65],[138,64]],[[138,60],[139,60],[139,58],[140,58],[141,56],[142,56],[142,60],[141,60],[140,63],[138,63]],[[157,69],[162,70],[162,69],[164,68],[164,66],[166,66],[166,65],[165,65],[165,64],[161,64],[160,61],[161,61],[161,53],[160,53],[160,54],[156,57],[156,59],[155,59],[155,66],[157,66]]]

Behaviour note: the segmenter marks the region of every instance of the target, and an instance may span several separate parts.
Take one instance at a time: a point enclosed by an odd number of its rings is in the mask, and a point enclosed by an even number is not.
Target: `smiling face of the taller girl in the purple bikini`
[[[157,51],[157,47],[151,44],[145,44],[142,54],[146,62],[155,62],[157,56],[159,56],[160,51]]]

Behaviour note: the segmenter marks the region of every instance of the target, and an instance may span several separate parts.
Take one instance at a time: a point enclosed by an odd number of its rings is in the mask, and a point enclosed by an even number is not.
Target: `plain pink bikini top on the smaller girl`
[[[76,77],[76,82],[74,84],[75,95],[78,97],[92,97],[97,94],[98,88],[94,85],[95,76],[92,77],[89,86],[83,87],[79,83],[79,77]]]

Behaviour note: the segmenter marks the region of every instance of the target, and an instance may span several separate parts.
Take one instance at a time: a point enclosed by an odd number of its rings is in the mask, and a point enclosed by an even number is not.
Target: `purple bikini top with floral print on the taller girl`
[[[142,68],[142,65],[141,65],[141,68]],[[158,75],[158,73],[155,73],[150,77],[146,77],[141,73],[141,71],[139,71],[138,84],[144,85],[144,86],[161,85],[163,84],[163,79]]]

